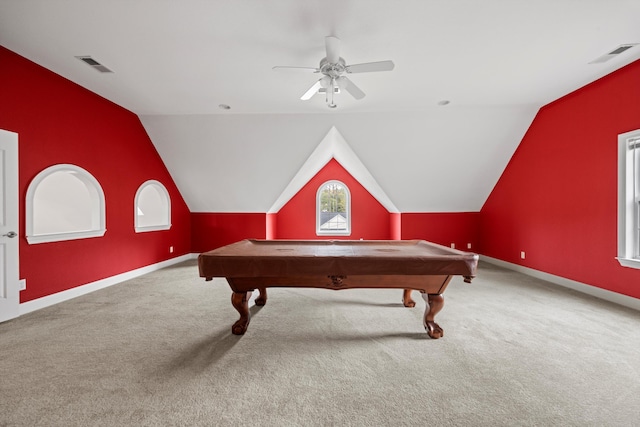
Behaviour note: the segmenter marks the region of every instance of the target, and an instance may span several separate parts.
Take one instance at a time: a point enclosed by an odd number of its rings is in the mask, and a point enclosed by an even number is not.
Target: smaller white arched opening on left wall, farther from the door
[[[171,228],[171,199],[160,182],[144,182],[135,198],[135,228],[137,233]]]

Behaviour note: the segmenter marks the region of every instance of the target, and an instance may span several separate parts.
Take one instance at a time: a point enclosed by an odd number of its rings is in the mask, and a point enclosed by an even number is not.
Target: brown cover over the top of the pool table
[[[478,255],[424,240],[247,239],[200,254],[201,277],[475,276]]]

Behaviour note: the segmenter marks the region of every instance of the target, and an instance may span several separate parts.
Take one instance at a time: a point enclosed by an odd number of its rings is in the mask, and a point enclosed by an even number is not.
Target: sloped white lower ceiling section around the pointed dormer
[[[192,212],[266,212],[332,126],[400,211],[473,212],[537,110],[449,105],[407,113],[141,120]]]

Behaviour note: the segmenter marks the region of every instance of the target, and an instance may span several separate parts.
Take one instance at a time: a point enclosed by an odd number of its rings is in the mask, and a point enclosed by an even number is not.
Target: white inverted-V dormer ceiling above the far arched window
[[[385,209],[390,213],[400,213],[344,137],[332,126],[267,214],[277,213],[332,158],[336,159]]]

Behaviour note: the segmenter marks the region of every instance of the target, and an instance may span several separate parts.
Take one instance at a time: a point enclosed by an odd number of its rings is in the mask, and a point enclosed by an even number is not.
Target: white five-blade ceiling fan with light
[[[340,39],[333,36],[327,36],[325,37],[324,42],[327,56],[320,61],[320,66],[318,68],[290,66],[273,67],[274,70],[283,68],[301,69],[323,74],[323,77],[315,82],[315,84],[300,97],[303,101],[311,99],[311,97],[316,93],[324,93],[329,108],[336,108],[337,105],[334,103],[333,96],[336,93],[340,93],[341,90],[346,90],[355,99],[362,99],[365,96],[365,93],[344,74],[393,70],[393,61],[365,62],[363,64],[347,65],[345,60],[340,57]]]

